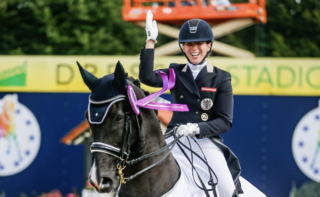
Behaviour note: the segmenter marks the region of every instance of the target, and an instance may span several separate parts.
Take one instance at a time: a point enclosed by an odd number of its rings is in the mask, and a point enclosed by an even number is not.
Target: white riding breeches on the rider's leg
[[[194,142],[194,140],[189,137],[192,150],[202,157],[203,157],[203,154],[205,155],[205,157],[207,158],[208,164],[210,165],[210,167],[218,177],[217,187],[219,190],[219,196],[231,197],[235,190],[235,186],[222,151],[208,138],[204,138],[204,139],[194,138],[194,139],[198,142],[202,151],[199,148],[199,146]],[[172,140],[173,140],[173,137],[170,137],[166,140],[166,142],[169,143]],[[182,137],[180,141],[184,143],[187,147],[190,146],[187,140],[187,137]],[[188,154],[189,158],[191,159],[190,151],[185,148],[184,150]],[[172,150],[172,154],[173,156],[176,156],[176,155],[181,155],[183,153],[181,152],[178,145],[175,145],[175,147]],[[197,156],[193,155],[193,160],[195,163],[200,165],[203,169],[208,169],[208,167]],[[203,180],[203,181],[207,182],[208,180]],[[216,182],[216,180],[214,180],[214,182]]]

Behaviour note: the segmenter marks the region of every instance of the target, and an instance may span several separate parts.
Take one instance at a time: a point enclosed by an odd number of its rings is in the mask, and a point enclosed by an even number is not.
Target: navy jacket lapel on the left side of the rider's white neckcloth
[[[177,73],[181,81],[184,83],[184,85],[194,94],[196,94],[200,98],[199,89],[197,87],[196,82],[193,80],[193,76],[191,73],[191,70],[188,65],[185,65],[182,70],[179,69],[179,72]]]

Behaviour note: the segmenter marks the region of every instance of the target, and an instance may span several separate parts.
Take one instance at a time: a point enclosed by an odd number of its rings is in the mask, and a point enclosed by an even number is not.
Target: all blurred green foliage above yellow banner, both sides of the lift
[[[145,30],[122,20],[122,5],[121,0],[1,0],[0,54],[136,55]],[[266,24],[218,40],[257,56],[320,57],[320,0],[267,0],[266,6]],[[160,34],[157,46],[171,40]]]

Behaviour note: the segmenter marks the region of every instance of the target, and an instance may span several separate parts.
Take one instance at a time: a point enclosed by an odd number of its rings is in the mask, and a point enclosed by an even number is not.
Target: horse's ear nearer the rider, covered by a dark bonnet
[[[113,85],[116,87],[119,93],[126,94],[126,91],[127,91],[126,73],[124,72],[123,66],[119,61],[114,70]]]

